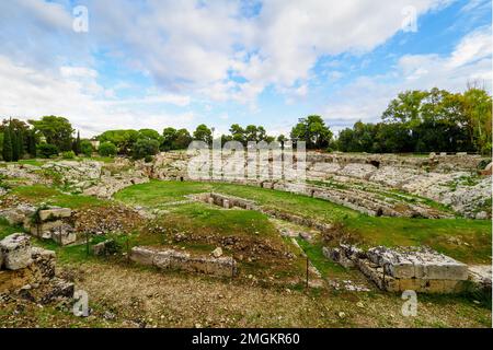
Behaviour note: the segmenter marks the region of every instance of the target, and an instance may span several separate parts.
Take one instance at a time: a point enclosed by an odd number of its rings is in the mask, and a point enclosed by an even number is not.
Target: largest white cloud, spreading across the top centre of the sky
[[[413,7],[420,15],[444,3],[415,0]],[[80,50],[105,47],[173,93],[252,104],[270,85],[287,93],[305,85],[321,56],[367,52],[385,43],[401,30],[408,4],[273,0],[245,16],[242,1],[89,0],[89,43]]]

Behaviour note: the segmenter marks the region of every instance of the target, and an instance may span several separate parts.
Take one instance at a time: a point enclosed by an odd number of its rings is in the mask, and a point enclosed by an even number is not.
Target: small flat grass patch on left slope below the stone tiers
[[[64,194],[44,185],[20,186],[14,188],[11,194],[34,203],[45,202],[71,209],[103,207],[110,203],[110,201],[95,197]]]

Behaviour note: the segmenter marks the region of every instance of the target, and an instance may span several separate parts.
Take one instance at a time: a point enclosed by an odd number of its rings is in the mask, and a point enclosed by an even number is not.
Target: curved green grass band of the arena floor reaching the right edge
[[[341,222],[344,224],[344,230],[359,237],[366,246],[428,245],[463,262],[491,262],[491,220],[374,218],[329,201],[301,195],[253,186],[194,182],[152,180],[128,187],[118,192],[116,198],[135,205],[159,207],[160,203],[183,200],[187,194],[210,191],[211,189],[251,199],[261,206],[312,218],[320,222]],[[190,211],[190,207],[177,206],[175,208],[179,211],[182,210],[179,208],[183,208],[183,215]],[[239,215],[246,215],[246,212],[239,211]],[[192,210],[186,218],[199,222],[200,220],[209,221],[211,226],[228,226],[229,223],[226,221],[231,218],[221,215],[213,215],[207,210],[202,213]],[[458,238],[461,244],[456,244],[450,238]]]

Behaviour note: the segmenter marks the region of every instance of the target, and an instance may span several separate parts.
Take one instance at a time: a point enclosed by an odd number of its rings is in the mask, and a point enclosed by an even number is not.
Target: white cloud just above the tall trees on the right
[[[491,27],[479,28],[466,35],[449,56],[405,55],[383,77],[358,78],[330,98],[324,116],[341,129],[358,119],[379,121],[389,102],[406,90],[460,92],[469,81],[479,81],[491,92]]]

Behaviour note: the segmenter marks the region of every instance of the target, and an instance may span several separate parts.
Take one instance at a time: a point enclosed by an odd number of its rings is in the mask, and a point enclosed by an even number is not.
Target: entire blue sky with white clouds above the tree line
[[[4,0],[0,117],[340,130],[400,91],[491,91],[491,22],[490,0]]]

